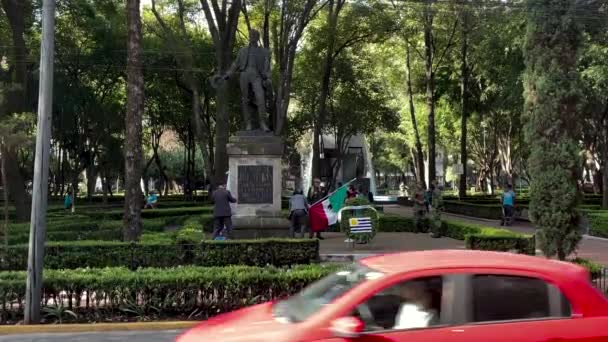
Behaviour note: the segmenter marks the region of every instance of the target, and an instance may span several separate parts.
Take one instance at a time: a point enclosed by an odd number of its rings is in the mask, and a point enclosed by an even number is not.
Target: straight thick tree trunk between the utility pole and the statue
[[[123,239],[135,241],[142,230],[142,117],[144,76],[142,70],[142,32],[139,0],[127,0],[128,60],[127,115],[125,118],[125,213]]]

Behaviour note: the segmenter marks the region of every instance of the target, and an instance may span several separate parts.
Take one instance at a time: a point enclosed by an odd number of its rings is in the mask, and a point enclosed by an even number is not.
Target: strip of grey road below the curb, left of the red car
[[[0,336],[0,342],[170,342],[180,333],[166,331],[123,331],[74,334],[32,334]]]

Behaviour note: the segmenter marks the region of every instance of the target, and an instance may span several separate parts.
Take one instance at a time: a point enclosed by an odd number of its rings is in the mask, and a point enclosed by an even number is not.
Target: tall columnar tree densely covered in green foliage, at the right
[[[525,43],[526,139],[531,152],[530,218],[547,257],[564,260],[581,240],[577,186],[580,168],[577,56],[578,2],[527,2]]]

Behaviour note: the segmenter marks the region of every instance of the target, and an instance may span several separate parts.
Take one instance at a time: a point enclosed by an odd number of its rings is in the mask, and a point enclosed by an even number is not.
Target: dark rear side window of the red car
[[[569,317],[568,299],[557,287],[541,279],[473,276],[474,322]]]

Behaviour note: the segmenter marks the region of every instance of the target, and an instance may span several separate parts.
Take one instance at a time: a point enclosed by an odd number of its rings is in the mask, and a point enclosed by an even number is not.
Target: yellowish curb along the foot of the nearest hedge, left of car
[[[154,331],[188,329],[199,322],[136,322],[136,323],[94,323],[94,324],[38,324],[0,326],[1,335],[23,335],[40,333],[80,333],[101,331]]]

